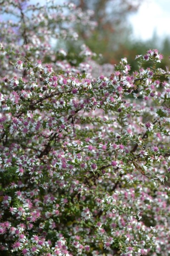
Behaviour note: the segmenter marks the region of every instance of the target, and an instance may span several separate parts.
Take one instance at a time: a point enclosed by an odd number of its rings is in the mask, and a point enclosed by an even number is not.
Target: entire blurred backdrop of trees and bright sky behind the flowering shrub
[[[32,3],[38,0],[31,0]],[[40,3],[45,0],[39,0]],[[56,3],[64,2],[55,0]],[[98,55],[100,64],[117,64],[127,57],[131,70],[136,70],[135,56],[148,49],[159,49],[164,59],[159,67],[170,67],[170,0],[71,0],[83,11],[94,11],[97,26],[91,32],[77,26],[79,40],[58,42],[73,56],[86,44]]]

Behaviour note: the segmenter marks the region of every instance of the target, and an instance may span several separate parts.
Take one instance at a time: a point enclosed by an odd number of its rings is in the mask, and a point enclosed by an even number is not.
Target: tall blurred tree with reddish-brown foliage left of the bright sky
[[[130,13],[136,12],[142,1],[130,0],[74,0],[83,11],[94,11],[97,26],[91,34],[78,27],[82,41],[97,54],[102,53],[102,63],[118,63],[116,52],[121,44],[130,40],[131,28],[127,24]],[[73,49],[72,49],[73,50]]]

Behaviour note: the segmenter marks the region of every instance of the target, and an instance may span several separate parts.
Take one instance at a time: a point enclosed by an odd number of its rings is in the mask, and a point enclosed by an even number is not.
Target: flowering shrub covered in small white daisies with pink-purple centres
[[[66,21],[94,24],[73,4],[8,0],[1,12],[16,15],[0,30],[2,255],[169,255],[163,56],[136,56],[134,73],[124,58],[95,78],[87,47],[73,66],[50,46],[77,38]]]

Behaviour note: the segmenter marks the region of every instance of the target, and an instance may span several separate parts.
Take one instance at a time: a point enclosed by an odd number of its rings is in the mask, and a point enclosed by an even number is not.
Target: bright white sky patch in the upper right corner
[[[170,0],[143,0],[138,12],[129,16],[134,38],[143,41],[156,33],[170,37]]]

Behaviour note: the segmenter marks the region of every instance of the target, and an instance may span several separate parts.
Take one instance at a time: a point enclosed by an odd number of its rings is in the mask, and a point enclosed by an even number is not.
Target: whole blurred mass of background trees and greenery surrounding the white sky
[[[147,41],[139,41],[132,38],[132,28],[128,24],[128,15],[136,12],[143,1],[130,0],[74,0],[74,3],[82,10],[94,11],[93,20],[97,26],[91,33],[87,33],[85,27],[77,26],[81,41],[74,46],[67,44],[67,49],[74,55],[79,51],[80,44],[84,42],[93,52],[102,54],[99,63],[117,64],[120,58],[128,58],[131,70],[136,70],[134,58],[139,53],[144,54],[149,48],[159,49],[165,56],[161,67],[169,67],[170,38],[161,39],[153,34]],[[80,43],[81,42],[81,43]],[[160,44],[160,42],[162,42]]]

